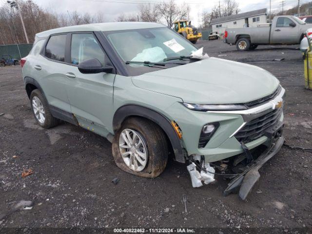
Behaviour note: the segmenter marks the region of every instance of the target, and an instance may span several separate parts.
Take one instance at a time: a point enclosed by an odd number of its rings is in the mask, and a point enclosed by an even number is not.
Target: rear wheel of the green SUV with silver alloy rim
[[[30,105],[36,121],[42,128],[48,129],[59,124],[59,119],[51,115],[48,102],[39,89],[31,92]]]

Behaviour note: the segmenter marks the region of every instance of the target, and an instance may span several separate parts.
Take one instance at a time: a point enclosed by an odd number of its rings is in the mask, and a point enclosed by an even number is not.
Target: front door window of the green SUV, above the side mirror
[[[88,59],[98,59],[102,65],[105,65],[105,54],[93,34],[73,34],[71,63],[78,65]]]

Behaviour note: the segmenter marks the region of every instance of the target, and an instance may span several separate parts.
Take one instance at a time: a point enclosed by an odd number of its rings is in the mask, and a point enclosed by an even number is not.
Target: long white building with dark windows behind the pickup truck
[[[256,27],[267,22],[267,8],[211,20],[213,32],[223,35],[227,28]]]

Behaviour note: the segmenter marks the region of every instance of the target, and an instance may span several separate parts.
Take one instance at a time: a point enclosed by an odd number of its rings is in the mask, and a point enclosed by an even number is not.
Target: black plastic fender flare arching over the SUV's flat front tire
[[[171,121],[167,117],[164,117],[162,114],[154,110],[133,104],[125,105],[118,108],[113,118],[114,133],[116,133],[117,130],[121,127],[122,122],[127,117],[131,116],[145,117],[155,122],[157,125],[159,125],[160,128],[166,133],[167,137],[171,142],[176,157],[176,161],[185,163],[185,158],[180,143],[180,139],[177,136],[173,126],[171,125]]]

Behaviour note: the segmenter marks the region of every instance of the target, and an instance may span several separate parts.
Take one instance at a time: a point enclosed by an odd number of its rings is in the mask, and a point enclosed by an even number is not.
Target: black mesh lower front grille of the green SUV
[[[236,139],[239,142],[248,143],[262,137],[268,128],[273,127],[278,122],[282,112],[282,108],[275,109],[263,116],[251,120],[235,134]]]

